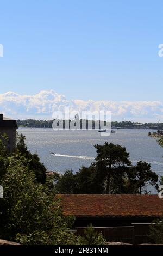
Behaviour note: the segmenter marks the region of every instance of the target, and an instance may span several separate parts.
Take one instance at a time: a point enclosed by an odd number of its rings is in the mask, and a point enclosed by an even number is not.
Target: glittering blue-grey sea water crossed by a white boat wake
[[[49,170],[76,172],[89,166],[96,157],[95,144],[105,141],[118,143],[130,152],[130,160],[151,163],[152,170],[163,175],[163,148],[155,139],[148,137],[148,130],[116,130],[109,137],[102,137],[98,131],[54,131],[53,129],[19,129],[26,136],[28,149],[40,156]],[[53,151],[58,156],[51,156]]]

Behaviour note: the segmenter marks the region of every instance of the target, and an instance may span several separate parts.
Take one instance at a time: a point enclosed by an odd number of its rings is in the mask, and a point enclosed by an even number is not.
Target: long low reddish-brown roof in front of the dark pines
[[[59,194],[65,215],[161,216],[163,199],[158,195]]]

